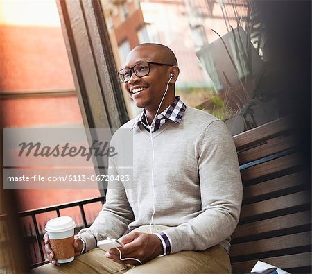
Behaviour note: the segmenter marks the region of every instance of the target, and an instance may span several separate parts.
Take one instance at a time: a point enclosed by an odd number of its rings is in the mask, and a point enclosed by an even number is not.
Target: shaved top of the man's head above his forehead
[[[175,53],[173,53],[173,51],[171,51],[168,46],[165,46],[164,44],[144,43],[135,46],[132,51],[137,51],[142,48],[148,49],[148,51],[155,53],[159,61],[177,66],[177,58],[175,57]]]

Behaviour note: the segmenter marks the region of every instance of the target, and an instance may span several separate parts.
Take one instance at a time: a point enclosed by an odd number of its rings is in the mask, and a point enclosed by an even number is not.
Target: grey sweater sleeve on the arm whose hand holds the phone
[[[190,221],[165,230],[173,253],[215,246],[231,236],[239,221],[241,175],[233,139],[222,121],[207,126],[197,151],[202,210]]]

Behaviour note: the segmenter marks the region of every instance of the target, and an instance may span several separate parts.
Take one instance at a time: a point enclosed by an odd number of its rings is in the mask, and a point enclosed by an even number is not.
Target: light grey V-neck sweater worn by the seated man
[[[118,239],[128,232],[128,226],[150,224],[152,145],[150,133],[135,121],[121,127],[133,132],[132,185],[107,190],[100,214],[90,228],[79,233],[86,250],[95,248],[96,240]],[[228,250],[229,237],[239,221],[242,184],[236,149],[225,124],[188,107],[180,123],[168,121],[153,133],[153,144],[153,221],[171,227],[166,234],[172,252],[205,250],[218,243]],[[111,174],[119,174],[118,167],[110,169]]]

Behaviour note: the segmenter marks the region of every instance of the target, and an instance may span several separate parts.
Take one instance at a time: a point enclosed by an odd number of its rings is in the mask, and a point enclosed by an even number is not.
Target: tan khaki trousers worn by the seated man
[[[157,226],[158,229],[164,229]],[[137,229],[139,232],[150,232],[149,226]],[[187,241],[187,239],[186,239]],[[75,258],[73,262],[53,266],[46,264],[33,270],[33,273],[81,273],[81,274],[191,274],[191,273],[231,273],[229,255],[219,245],[204,251],[182,251],[175,254],[157,257],[141,266],[130,266],[116,263],[105,258],[105,251],[95,248]]]

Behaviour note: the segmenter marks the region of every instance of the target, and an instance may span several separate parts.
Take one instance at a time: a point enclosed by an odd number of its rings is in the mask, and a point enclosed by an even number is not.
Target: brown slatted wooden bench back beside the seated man
[[[257,260],[311,273],[311,181],[288,117],[233,137],[243,206],[229,254],[233,273]]]

